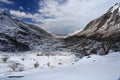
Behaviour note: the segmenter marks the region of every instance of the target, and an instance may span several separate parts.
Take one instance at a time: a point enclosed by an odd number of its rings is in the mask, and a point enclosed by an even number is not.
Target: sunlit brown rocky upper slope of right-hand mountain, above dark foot
[[[116,3],[104,15],[91,21],[77,35],[120,41],[120,3]]]

